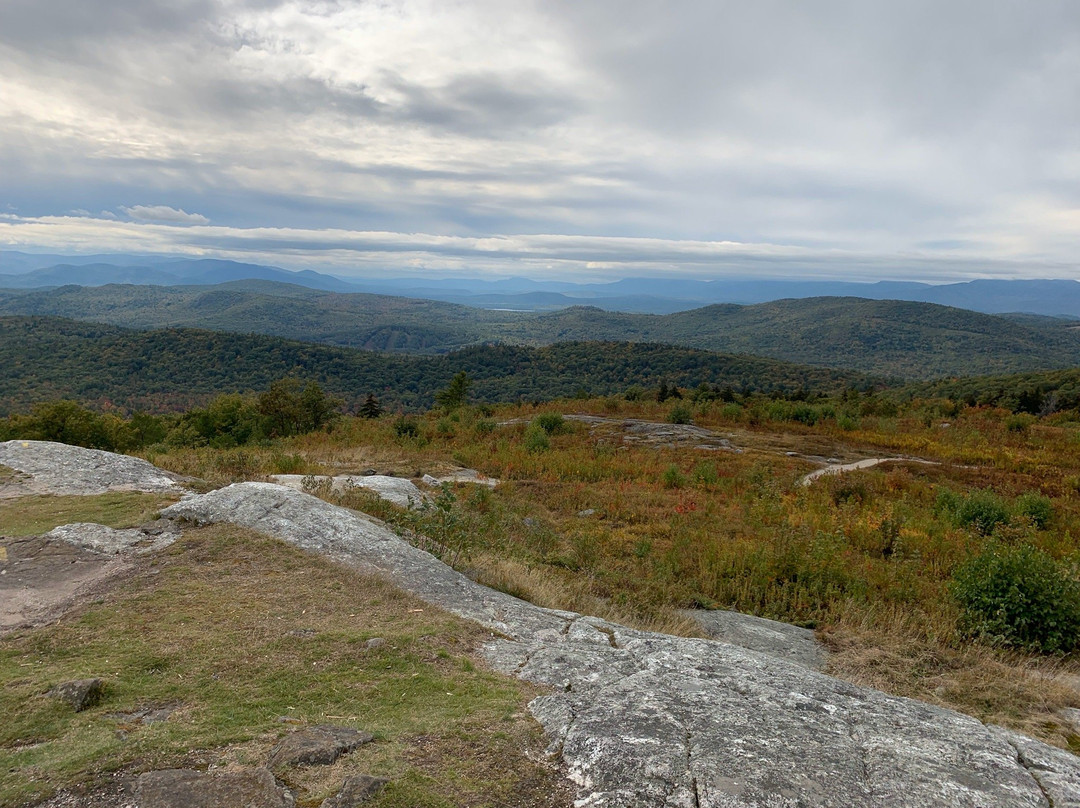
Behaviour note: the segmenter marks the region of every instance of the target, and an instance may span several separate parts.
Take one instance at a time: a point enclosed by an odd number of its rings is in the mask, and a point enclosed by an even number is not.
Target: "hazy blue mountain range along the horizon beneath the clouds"
[[[215,285],[238,280],[293,283],[326,292],[442,300],[485,309],[553,311],[594,306],[606,311],[666,314],[711,304],[758,304],[786,298],[863,297],[953,306],[984,313],[1030,313],[1080,319],[1080,283],[1066,280],[976,280],[933,285],[881,281],[627,278],[611,283],[569,283],[527,278],[348,279],[220,259],[145,255],[59,256],[0,252],[0,287],[35,288],[110,283]]]

